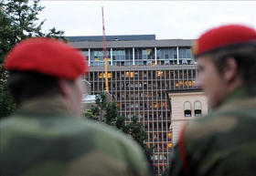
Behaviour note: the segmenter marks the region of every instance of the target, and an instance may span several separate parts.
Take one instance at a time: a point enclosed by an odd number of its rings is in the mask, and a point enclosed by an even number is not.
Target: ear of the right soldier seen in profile
[[[238,78],[238,64],[233,57],[226,58],[225,68],[223,70],[223,78],[227,82],[232,82]]]

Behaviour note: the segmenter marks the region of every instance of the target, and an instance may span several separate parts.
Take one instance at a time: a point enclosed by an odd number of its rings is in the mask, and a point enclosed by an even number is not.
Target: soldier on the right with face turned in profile
[[[171,176],[256,175],[256,31],[227,25],[195,41],[198,86],[211,112],[181,131]]]

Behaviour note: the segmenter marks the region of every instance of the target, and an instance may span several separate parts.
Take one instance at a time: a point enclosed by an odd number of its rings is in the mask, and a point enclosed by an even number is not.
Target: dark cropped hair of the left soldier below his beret
[[[17,106],[31,98],[60,94],[58,78],[36,72],[10,71],[7,84]]]

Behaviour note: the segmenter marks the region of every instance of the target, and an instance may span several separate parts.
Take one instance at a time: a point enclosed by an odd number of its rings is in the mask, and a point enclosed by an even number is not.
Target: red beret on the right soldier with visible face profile
[[[208,30],[200,36],[192,47],[192,53],[198,57],[220,48],[238,46],[256,42],[256,31],[248,26],[227,25]]]

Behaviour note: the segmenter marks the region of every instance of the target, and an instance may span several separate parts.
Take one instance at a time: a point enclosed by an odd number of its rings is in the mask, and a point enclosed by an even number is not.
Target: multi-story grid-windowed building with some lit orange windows
[[[102,36],[70,36],[69,44],[88,57],[92,94],[105,89],[129,123],[137,115],[144,123],[148,147],[155,146],[154,171],[168,166],[172,143],[171,111],[166,90],[196,88],[197,67],[190,54],[192,40],[156,40],[155,35],[106,36],[108,74],[104,73]]]

